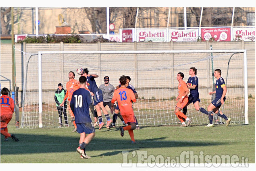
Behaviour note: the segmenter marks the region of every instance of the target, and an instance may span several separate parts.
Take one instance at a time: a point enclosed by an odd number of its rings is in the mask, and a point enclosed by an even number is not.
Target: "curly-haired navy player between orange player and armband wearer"
[[[191,67],[189,70],[190,77],[187,80],[187,87],[190,90],[190,94],[188,96],[188,103],[185,105],[185,107],[182,109],[182,113],[186,115],[187,113],[187,106],[190,103],[194,104],[194,107],[197,111],[200,111],[206,115],[208,115],[208,111],[206,109],[199,106],[200,99],[199,99],[199,93],[198,93],[198,78],[196,76],[197,69],[195,67]],[[185,121],[185,118],[183,118],[183,121]],[[181,123],[181,122],[178,122]]]

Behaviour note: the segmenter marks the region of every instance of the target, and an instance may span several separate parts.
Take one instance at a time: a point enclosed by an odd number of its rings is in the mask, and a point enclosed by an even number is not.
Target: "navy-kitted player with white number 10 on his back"
[[[80,88],[74,91],[70,108],[75,115],[75,124],[77,125],[77,132],[80,134],[79,147],[77,152],[85,159],[91,157],[85,153],[85,147],[95,136],[95,129],[92,124],[92,119],[89,115],[89,105],[91,104],[91,93],[85,89],[86,77],[79,78]]]

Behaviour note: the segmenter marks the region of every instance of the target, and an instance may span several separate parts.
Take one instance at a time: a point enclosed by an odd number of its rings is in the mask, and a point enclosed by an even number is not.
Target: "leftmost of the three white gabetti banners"
[[[136,29],[137,41],[167,41],[166,29]]]

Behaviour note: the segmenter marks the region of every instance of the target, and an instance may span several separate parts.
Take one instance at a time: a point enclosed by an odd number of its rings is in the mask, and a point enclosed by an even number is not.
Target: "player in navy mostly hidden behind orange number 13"
[[[133,91],[134,95],[135,95],[135,98],[138,99],[139,96],[138,96],[138,94],[137,94],[135,88],[134,88],[131,84],[129,84],[129,82],[131,81],[131,77],[126,76],[126,80],[127,80],[127,81],[126,81],[125,87],[128,88],[128,89],[131,89],[131,90]],[[116,89],[119,89],[120,87],[121,87],[121,84],[119,84],[119,85],[116,87]],[[117,107],[116,107],[116,109],[114,110],[113,122],[112,122],[112,124],[111,124],[108,128],[115,128],[115,123],[116,123],[116,120],[117,120],[117,116],[118,116],[118,115],[120,115],[120,109],[119,109],[118,104],[117,104]],[[137,121],[136,116],[135,116],[135,119],[136,119],[136,130],[139,130],[139,124],[138,124],[138,121]],[[126,124],[127,124],[127,123],[126,123]]]

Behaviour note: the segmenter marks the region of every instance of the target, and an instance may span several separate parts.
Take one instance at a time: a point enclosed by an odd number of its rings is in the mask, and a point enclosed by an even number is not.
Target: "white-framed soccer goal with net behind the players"
[[[75,79],[79,80],[76,74],[79,67],[99,76],[95,78],[98,87],[104,84],[104,76],[110,77],[109,83],[114,87],[119,85],[121,75],[130,76],[130,84],[139,95],[133,110],[140,126],[179,122],[174,113],[178,95],[176,76],[183,72],[183,80],[187,82],[191,67],[197,68],[199,105],[207,110],[212,101],[209,92],[216,82],[212,72],[221,69],[227,86],[221,111],[232,118],[231,124],[248,124],[246,50],[46,51],[26,58],[21,128],[59,126],[54,93],[58,83],[66,90],[69,71],[75,72]],[[107,106],[106,109],[110,113]],[[71,125],[68,111],[67,115]],[[192,124],[208,124],[208,115],[196,111],[193,103],[187,107],[186,115]],[[106,122],[104,115],[102,118]],[[117,124],[122,122],[118,119]]]

